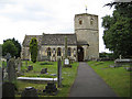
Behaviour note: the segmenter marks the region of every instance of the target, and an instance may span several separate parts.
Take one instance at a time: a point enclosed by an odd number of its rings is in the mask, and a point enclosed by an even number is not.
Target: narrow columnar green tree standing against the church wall
[[[31,38],[30,53],[31,53],[31,61],[35,63],[37,57],[37,40],[35,37]]]

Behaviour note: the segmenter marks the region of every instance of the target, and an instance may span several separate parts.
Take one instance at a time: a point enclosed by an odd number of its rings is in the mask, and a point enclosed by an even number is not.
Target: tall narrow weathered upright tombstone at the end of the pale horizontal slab
[[[57,62],[57,87],[62,87],[62,61]]]

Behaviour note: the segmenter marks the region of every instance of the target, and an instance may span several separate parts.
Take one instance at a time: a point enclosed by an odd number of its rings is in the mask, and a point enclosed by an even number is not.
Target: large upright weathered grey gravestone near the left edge
[[[14,58],[9,59],[7,72],[9,81],[13,81],[16,79]]]

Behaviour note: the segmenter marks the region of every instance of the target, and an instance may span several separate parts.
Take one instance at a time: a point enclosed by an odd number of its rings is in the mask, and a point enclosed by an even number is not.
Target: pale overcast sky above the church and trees
[[[78,13],[99,15],[99,52],[105,48],[101,18],[113,9],[103,7],[113,0],[0,0],[0,44],[7,38],[22,43],[26,35],[74,33],[74,16]]]

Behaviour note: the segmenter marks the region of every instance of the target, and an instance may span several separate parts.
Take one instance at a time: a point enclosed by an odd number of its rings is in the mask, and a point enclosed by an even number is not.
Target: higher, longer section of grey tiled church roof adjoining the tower
[[[64,45],[65,36],[68,45],[77,45],[76,34],[43,34],[42,45]]]

